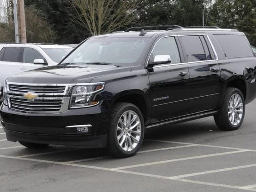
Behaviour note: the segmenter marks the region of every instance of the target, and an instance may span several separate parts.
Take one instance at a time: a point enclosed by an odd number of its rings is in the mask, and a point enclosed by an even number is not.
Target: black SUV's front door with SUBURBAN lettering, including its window
[[[188,66],[181,64],[184,57],[178,38],[160,38],[149,61],[155,56],[169,56],[171,63],[148,69],[152,123],[183,116],[189,107]]]

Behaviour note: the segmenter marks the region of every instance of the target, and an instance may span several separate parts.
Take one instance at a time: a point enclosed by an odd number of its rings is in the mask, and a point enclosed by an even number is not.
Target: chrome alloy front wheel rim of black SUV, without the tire
[[[117,123],[117,141],[122,150],[133,150],[140,141],[141,122],[138,114],[134,111],[124,112]]]

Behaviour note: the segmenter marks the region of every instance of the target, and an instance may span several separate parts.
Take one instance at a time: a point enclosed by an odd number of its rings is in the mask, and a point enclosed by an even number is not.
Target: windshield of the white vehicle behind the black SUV
[[[43,51],[56,63],[59,63],[73,48],[44,48]]]

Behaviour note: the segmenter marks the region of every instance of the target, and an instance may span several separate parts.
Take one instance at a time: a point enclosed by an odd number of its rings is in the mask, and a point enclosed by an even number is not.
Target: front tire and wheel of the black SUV
[[[127,126],[129,117],[131,123]],[[140,109],[131,103],[117,103],[111,112],[108,133],[107,147],[110,154],[117,158],[133,156],[140,149],[143,138],[144,119]]]

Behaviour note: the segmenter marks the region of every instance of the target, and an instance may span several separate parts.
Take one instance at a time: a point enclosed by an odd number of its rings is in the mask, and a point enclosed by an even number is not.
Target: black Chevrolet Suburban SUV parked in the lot
[[[7,139],[34,148],[108,147],[129,157],[150,127],[214,116],[220,129],[238,129],[256,98],[256,58],[245,34],[146,28],[90,37],[58,66],[6,80]]]

